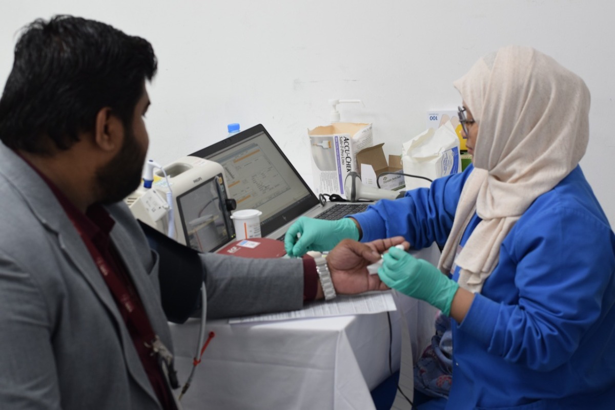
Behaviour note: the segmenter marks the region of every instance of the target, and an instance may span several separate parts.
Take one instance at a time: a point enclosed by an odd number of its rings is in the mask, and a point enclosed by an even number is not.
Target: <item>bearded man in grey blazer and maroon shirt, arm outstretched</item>
[[[155,72],[147,41],[97,21],[36,20],[18,39],[0,99],[3,410],[178,406],[158,282],[169,263],[121,201],[140,182]],[[367,265],[402,242],[343,242],[319,263],[327,290],[386,288]],[[323,297],[311,258],[200,254],[197,265],[208,317]]]

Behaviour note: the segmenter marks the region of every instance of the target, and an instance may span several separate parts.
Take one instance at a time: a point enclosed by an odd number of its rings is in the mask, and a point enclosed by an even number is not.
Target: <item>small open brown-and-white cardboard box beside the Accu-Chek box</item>
[[[405,186],[403,180],[402,157],[400,155],[389,155],[389,163],[384,157],[383,144],[365,148],[357,153],[357,164],[359,164],[361,182],[363,185],[378,188],[376,178],[383,172],[396,172],[396,174],[386,174],[380,177],[380,188],[387,190],[398,190]]]

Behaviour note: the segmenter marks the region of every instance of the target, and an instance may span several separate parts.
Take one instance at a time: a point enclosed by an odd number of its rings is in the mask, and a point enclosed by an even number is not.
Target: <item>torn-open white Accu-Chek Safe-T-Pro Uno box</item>
[[[312,150],[314,191],[344,196],[344,179],[359,172],[356,154],[371,147],[371,124],[333,123],[308,130]]]

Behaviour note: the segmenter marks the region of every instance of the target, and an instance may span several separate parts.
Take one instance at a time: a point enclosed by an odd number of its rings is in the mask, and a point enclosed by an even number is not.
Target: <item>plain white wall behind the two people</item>
[[[91,3],[91,4],[90,4]],[[456,107],[452,86],[479,56],[531,45],[579,74],[592,92],[581,161],[615,225],[615,3],[610,0],[39,0],[0,2],[0,82],[18,29],[74,14],[152,42],[149,157],[167,163],[262,123],[312,182],[306,130],[328,122],[329,98],[360,98],[342,119],[373,122],[399,153],[427,110]]]

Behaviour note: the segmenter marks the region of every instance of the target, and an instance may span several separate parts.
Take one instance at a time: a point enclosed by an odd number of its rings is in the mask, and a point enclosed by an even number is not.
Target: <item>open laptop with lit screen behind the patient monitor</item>
[[[261,124],[190,155],[223,166],[228,197],[237,201],[237,209],[263,212],[263,238],[284,241],[290,225],[301,216],[340,219],[364,211],[369,204],[321,203]]]

